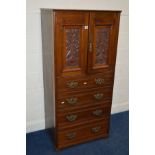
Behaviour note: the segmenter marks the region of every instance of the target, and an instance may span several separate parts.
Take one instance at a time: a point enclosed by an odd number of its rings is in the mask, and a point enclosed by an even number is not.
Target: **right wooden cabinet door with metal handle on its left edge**
[[[90,13],[88,72],[98,73],[114,69],[119,14],[116,12]]]

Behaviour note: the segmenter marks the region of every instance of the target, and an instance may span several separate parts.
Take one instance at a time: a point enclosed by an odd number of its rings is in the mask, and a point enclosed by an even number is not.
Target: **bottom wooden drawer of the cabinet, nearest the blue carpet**
[[[102,120],[65,131],[58,131],[58,146],[63,147],[90,139],[106,137],[108,135],[109,120]]]

